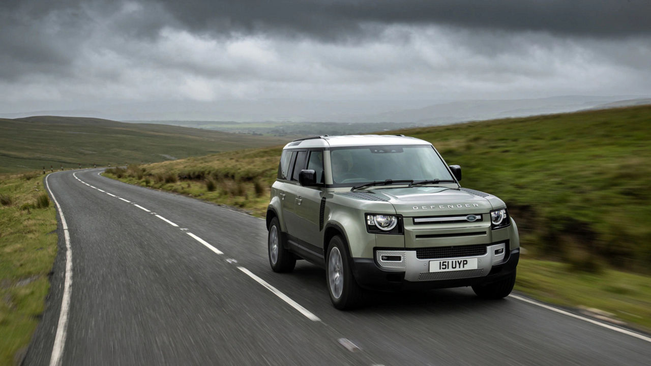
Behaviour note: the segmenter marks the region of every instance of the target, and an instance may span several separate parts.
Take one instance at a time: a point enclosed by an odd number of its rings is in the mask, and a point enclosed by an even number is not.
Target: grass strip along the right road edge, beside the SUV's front
[[[515,289],[563,307],[607,311],[616,320],[651,331],[651,281],[646,275],[611,269],[590,274],[561,262],[521,259]]]

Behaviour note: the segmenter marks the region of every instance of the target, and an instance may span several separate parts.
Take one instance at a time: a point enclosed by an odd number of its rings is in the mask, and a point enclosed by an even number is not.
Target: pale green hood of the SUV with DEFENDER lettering
[[[406,217],[484,214],[493,209],[493,204],[503,204],[492,195],[484,194],[486,197],[482,197],[446,187],[381,188],[372,191],[393,204],[397,214]]]

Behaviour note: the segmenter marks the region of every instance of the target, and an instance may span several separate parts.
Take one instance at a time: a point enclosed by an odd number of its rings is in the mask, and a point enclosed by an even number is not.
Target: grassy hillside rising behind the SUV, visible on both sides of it
[[[506,201],[522,245],[581,270],[651,268],[651,106],[400,130]],[[120,178],[264,215],[280,147],[130,167]]]

